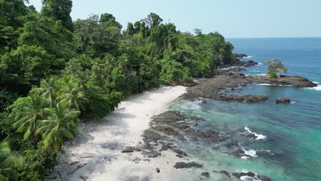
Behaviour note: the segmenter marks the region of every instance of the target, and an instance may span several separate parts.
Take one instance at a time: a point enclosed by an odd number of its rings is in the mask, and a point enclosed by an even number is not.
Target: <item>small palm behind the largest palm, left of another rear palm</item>
[[[34,92],[40,93],[50,108],[56,105],[55,100],[57,93],[56,80],[54,77],[47,78],[47,80],[41,80],[40,87],[32,89],[32,93]]]

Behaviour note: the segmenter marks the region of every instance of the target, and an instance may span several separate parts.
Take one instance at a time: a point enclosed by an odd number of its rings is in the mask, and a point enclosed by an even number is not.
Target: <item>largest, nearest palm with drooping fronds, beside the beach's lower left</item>
[[[64,141],[73,140],[78,126],[78,110],[69,109],[67,104],[58,103],[54,108],[47,108],[51,115],[40,121],[36,133],[43,133],[45,148],[52,147],[58,152]]]

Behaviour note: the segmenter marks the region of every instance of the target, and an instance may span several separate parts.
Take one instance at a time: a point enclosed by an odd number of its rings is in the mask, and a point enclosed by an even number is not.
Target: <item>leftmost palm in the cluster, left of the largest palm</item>
[[[14,128],[18,128],[19,131],[25,131],[23,138],[27,139],[31,136],[31,140],[36,138],[36,129],[38,128],[38,122],[44,117],[43,99],[38,94],[31,94],[30,101],[23,108],[23,112],[19,114],[14,123]]]

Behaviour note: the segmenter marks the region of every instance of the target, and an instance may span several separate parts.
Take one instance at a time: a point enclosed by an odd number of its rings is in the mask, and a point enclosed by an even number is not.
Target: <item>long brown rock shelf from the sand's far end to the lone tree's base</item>
[[[199,99],[200,97],[207,99],[215,99],[219,101],[239,101],[239,102],[263,102],[268,97],[263,95],[233,95],[222,93],[226,88],[237,88],[246,86],[247,84],[276,84],[289,85],[297,87],[313,87],[318,86],[305,77],[285,76],[279,78],[271,78],[270,76],[245,76],[242,73],[230,73],[221,71],[212,78],[195,80],[198,82],[196,86],[187,88],[187,93],[182,95],[183,99]]]

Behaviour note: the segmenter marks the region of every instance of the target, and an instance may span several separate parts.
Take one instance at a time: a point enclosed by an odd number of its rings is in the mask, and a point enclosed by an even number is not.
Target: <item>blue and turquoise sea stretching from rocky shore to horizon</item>
[[[235,53],[245,53],[245,60],[259,62],[242,73],[265,75],[265,60],[279,58],[289,69],[287,75],[301,75],[321,84],[321,38],[235,38],[227,39],[235,46]],[[228,90],[226,90],[228,93]],[[209,100],[180,100],[171,110],[204,117],[200,127],[230,134],[228,143],[178,143],[193,160],[209,169],[209,180],[228,180],[213,170],[252,171],[272,180],[321,180],[321,87],[295,88],[252,84],[238,94],[265,95],[264,103],[246,104]],[[292,100],[288,105],[276,105],[278,97]],[[254,132],[257,139],[243,136]],[[233,142],[239,147],[230,146]],[[241,149],[252,158],[229,156],[228,152]],[[199,180],[204,170],[191,171],[182,180]],[[198,173],[200,172],[200,173]],[[187,179],[188,178],[188,179]],[[246,178],[243,178],[246,180]],[[250,178],[248,178],[250,180]]]

